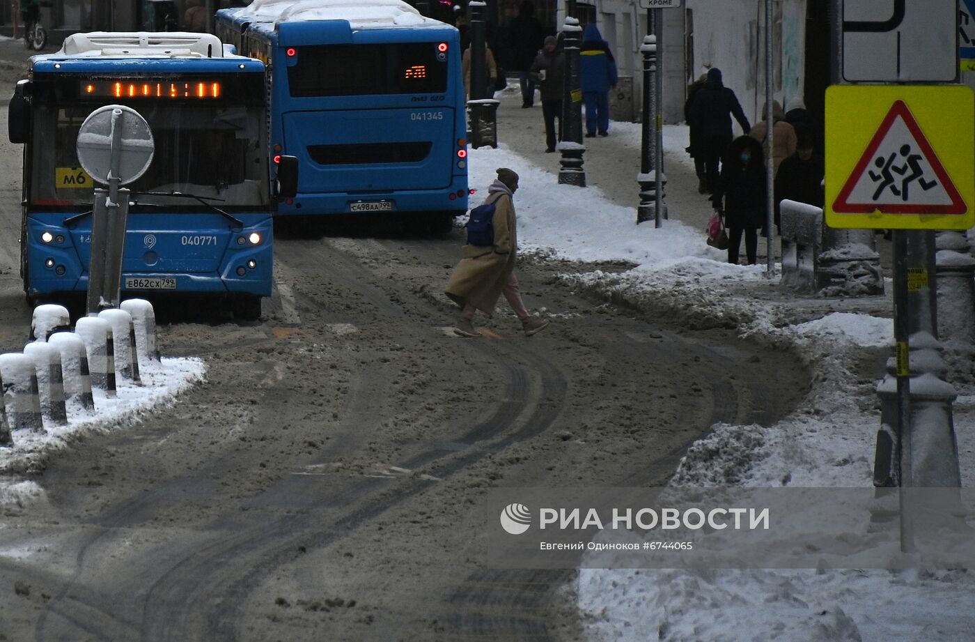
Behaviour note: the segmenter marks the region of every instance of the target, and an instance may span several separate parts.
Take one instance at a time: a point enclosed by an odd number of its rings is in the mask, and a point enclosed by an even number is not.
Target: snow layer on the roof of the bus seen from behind
[[[353,28],[441,24],[401,0],[254,0],[234,16],[266,22],[348,20]]]

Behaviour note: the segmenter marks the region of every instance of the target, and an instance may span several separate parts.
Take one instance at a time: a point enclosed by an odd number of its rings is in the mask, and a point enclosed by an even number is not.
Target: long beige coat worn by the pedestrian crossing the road
[[[497,202],[494,218],[494,245],[464,246],[464,257],[453,268],[446,294],[461,307],[470,303],[488,316],[494,311],[508,277],[515,269],[518,253],[515,204],[504,192],[493,192],[485,203]]]

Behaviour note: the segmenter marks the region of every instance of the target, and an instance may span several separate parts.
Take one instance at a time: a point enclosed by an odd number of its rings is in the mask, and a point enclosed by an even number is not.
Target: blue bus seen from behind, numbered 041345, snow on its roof
[[[268,67],[273,159],[298,159],[278,215],[390,212],[448,231],[467,210],[457,30],[391,0],[255,0],[216,34]]]

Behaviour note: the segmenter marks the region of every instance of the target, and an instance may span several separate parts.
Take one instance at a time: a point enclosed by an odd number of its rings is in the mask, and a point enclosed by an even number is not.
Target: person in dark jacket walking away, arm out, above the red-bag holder
[[[722,83],[721,69],[713,67],[708,70],[708,79],[690,106],[691,122],[698,128],[701,137],[708,191],[712,194],[715,193],[720,177],[719,162],[734,138],[731,131],[732,115],[745,134],[752,130],[738,97]]]

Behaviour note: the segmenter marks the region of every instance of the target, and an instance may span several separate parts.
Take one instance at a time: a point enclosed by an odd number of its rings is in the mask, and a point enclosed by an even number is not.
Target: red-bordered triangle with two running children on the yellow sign
[[[907,103],[897,100],[839,191],[833,211],[963,215],[968,206]]]

